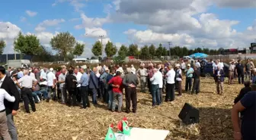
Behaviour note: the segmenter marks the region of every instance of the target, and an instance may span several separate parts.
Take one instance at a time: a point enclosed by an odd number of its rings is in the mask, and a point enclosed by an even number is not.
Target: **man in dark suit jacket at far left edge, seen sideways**
[[[11,139],[18,140],[18,132],[14,125],[13,116],[18,113],[20,95],[13,80],[10,77],[6,76],[5,67],[2,67],[2,66],[0,66],[0,79],[1,79],[0,88],[5,89],[5,91],[8,92],[9,95],[14,96],[15,98],[15,101],[13,103],[7,100],[5,100],[4,103],[5,103],[5,112],[7,116],[7,125],[9,129],[9,133],[11,135]]]

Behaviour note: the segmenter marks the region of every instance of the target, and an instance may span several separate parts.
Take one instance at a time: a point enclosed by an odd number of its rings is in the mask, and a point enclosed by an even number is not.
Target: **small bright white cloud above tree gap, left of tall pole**
[[[99,36],[107,37],[107,31],[101,28],[85,28],[85,37],[99,38]]]

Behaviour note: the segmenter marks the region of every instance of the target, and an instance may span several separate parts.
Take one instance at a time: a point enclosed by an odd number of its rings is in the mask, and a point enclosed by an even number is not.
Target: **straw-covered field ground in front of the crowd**
[[[117,126],[123,117],[128,118],[132,127],[169,130],[168,140],[231,140],[230,110],[241,88],[242,85],[225,83],[224,95],[216,95],[213,79],[202,79],[199,95],[184,93],[159,107],[152,107],[151,95],[138,93],[136,114],[112,113],[107,110],[107,104],[101,102],[97,107],[82,110],[53,101],[40,102],[36,104],[37,112],[25,114],[21,104],[14,121],[20,140],[100,140],[104,139],[110,123]],[[179,120],[178,114],[185,102],[200,110],[199,124],[185,126]]]

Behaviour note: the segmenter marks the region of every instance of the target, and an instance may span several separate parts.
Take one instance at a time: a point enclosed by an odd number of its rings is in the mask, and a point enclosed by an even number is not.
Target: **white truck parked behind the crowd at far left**
[[[8,60],[8,67],[18,68],[18,67],[31,67],[29,60]]]

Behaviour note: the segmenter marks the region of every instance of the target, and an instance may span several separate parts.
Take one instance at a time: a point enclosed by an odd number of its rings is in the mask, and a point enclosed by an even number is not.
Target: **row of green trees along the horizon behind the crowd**
[[[3,53],[5,48],[5,42],[0,41],[0,54]],[[14,39],[14,51],[21,54],[27,54],[31,56],[33,61],[71,61],[72,58],[80,56],[84,49],[85,44],[79,43],[75,40],[69,32],[59,33],[50,40],[52,48],[47,48],[40,44],[40,40],[34,35],[24,35],[18,33],[16,39]],[[57,53],[53,54],[53,50]],[[129,46],[122,45],[119,49],[113,44],[113,42],[107,42],[104,46],[100,41],[97,41],[92,45],[91,52],[96,58],[102,58],[103,53],[107,55],[107,58],[113,58],[114,61],[123,61],[127,56],[134,56],[142,60],[149,60],[159,58],[163,56],[171,56],[171,58],[181,58],[196,52],[202,52],[205,54],[216,55],[219,54],[219,49],[209,48],[194,48],[188,49],[187,47],[174,46],[168,48],[159,44],[155,45],[144,45],[139,48],[136,44]],[[94,58],[94,57],[92,57]]]

